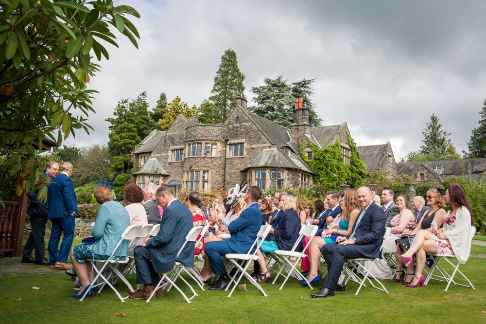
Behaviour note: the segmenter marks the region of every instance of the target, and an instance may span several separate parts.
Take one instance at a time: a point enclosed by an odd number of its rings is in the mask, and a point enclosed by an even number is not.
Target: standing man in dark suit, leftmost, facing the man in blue
[[[58,172],[59,164],[57,162],[51,161],[47,163],[45,174],[48,185],[57,176]],[[34,262],[36,265],[49,266],[49,261],[44,257],[44,236],[46,235],[46,223],[49,211],[46,205],[39,201],[38,194],[38,189],[35,192],[29,191],[27,194],[27,197],[31,201],[27,214],[30,216],[32,232],[25,243],[22,263]],[[35,250],[35,259],[32,258],[33,250]]]

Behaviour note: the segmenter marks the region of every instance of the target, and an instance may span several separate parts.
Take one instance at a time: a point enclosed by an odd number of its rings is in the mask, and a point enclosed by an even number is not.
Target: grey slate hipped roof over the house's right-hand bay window
[[[242,171],[249,168],[284,168],[296,169],[303,172],[314,174],[307,165],[294,152],[288,156],[284,150],[279,148],[264,148],[260,154]]]

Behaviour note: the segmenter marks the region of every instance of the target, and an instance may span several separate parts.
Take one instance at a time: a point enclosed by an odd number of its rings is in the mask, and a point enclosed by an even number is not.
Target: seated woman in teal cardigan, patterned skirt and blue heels
[[[79,294],[74,298],[81,298],[90,285],[91,264],[89,260],[107,259],[121,239],[125,229],[130,226],[130,216],[123,206],[113,201],[113,194],[107,185],[94,188],[94,197],[100,204],[98,215],[91,234],[95,238],[93,244],[80,244],[71,249],[71,262],[74,271],[81,282]],[[113,255],[112,260],[124,260],[128,255],[128,242],[123,240]],[[92,288],[98,291],[98,287]]]

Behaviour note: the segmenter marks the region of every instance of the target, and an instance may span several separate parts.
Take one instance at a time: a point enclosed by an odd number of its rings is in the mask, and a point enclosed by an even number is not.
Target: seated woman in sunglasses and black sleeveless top
[[[435,220],[436,227],[441,228],[442,224],[444,223],[444,219],[446,219],[446,211],[444,209],[446,202],[444,197],[437,189],[430,188],[427,191],[427,205],[431,209],[426,211],[422,218],[420,218],[417,227],[412,233],[410,233],[409,237],[403,238],[397,245],[397,273],[395,275],[395,279],[393,279],[393,282],[399,282],[400,278],[405,274],[403,271],[403,261],[398,255],[407,252],[412,245],[414,236],[417,235],[420,230],[427,230],[428,232],[432,233],[433,220]],[[406,273],[406,278],[403,284],[410,284],[413,279],[413,275],[413,272]]]

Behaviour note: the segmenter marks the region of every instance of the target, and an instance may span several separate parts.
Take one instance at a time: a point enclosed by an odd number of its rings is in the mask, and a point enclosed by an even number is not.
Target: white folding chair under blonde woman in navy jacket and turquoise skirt
[[[289,279],[290,276],[293,276],[297,280],[305,280],[307,285],[309,286],[309,288],[312,289],[312,286],[309,283],[309,281],[307,281],[306,277],[304,277],[302,275],[302,273],[300,273],[300,271],[296,270],[295,267],[297,266],[297,263],[300,261],[300,259],[303,256],[307,256],[306,254],[304,254],[304,251],[306,251],[307,248],[309,247],[309,245],[311,244],[312,239],[313,239],[315,233],[317,232],[317,228],[318,227],[316,225],[306,225],[303,228],[302,236],[309,237],[310,239],[307,242],[307,244],[304,246],[304,249],[302,250],[302,252],[296,252],[295,251],[296,246],[294,246],[293,250],[291,250],[291,251],[277,250],[277,251],[274,252],[276,255],[278,255],[279,259],[284,263],[284,266],[280,268],[280,271],[278,271],[278,274],[275,277],[273,284],[275,284],[275,282],[276,282],[278,276],[280,275],[280,273],[282,272],[282,270],[285,269],[287,271],[287,275],[285,276],[285,280],[283,281],[280,288],[278,288],[278,290],[281,290],[283,288],[283,286],[285,285],[285,283],[287,282],[287,280]],[[298,242],[296,242],[296,243],[298,245]],[[293,261],[293,262],[290,261],[290,257],[292,257],[292,256],[296,257],[295,261]]]

